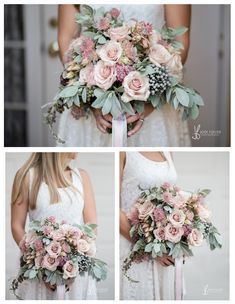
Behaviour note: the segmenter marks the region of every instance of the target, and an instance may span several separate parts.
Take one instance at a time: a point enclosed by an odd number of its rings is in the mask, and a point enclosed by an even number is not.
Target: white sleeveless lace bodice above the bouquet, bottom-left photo
[[[33,169],[30,169],[30,191],[32,191],[33,173]],[[71,187],[58,188],[61,201],[51,204],[48,186],[42,182],[38,191],[36,209],[29,209],[29,219],[32,221],[54,216],[58,221],[65,220],[70,224],[82,223],[83,187],[81,175],[77,169],[72,170],[72,183],[78,191],[75,192]]]

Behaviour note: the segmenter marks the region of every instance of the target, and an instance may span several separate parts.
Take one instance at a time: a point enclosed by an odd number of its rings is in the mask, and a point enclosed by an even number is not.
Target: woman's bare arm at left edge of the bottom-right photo
[[[122,176],[123,176],[123,169],[125,166],[125,160],[126,160],[126,154],[125,154],[125,152],[121,152],[120,153],[120,188],[121,188],[121,183],[122,183]],[[121,195],[120,195],[120,197],[121,197]],[[125,212],[120,209],[120,233],[128,241],[131,241],[130,229],[131,229],[131,226],[127,219],[127,216],[126,216]]]

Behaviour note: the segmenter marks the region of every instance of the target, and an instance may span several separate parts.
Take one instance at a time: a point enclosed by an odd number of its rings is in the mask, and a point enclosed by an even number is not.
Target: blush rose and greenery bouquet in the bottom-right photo
[[[133,248],[124,260],[124,274],[132,263],[167,254],[173,258],[192,256],[193,247],[206,240],[211,250],[221,248],[219,232],[211,222],[205,198],[210,190],[184,192],[164,183],[145,190],[128,214]],[[134,281],[136,282],[136,281]]]

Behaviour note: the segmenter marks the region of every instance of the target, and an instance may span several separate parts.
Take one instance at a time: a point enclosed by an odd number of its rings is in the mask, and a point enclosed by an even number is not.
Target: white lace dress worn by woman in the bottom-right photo
[[[177,174],[170,153],[164,153],[166,161],[155,162],[145,158],[139,152],[127,152],[121,187],[121,208],[128,213],[139,197],[141,190],[159,186],[164,182],[176,183]],[[120,237],[120,265],[127,257],[131,243]],[[173,300],[174,267],[161,266],[155,261],[132,264],[128,271],[131,278],[139,283],[132,283],[120,270],[120,291],[122,300]]]

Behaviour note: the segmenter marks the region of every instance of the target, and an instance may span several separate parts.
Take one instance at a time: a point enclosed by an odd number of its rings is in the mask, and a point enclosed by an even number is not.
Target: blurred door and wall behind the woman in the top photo
[[[52,101],[62,71],[57,5],[5,5],[4,31],[5,146],[54,146],[41,106]],[[192,145],[230,146],[230,5],[192,5],[185,82],[205,101],[189,122],[191,137],[197,128],[201,135]]]

